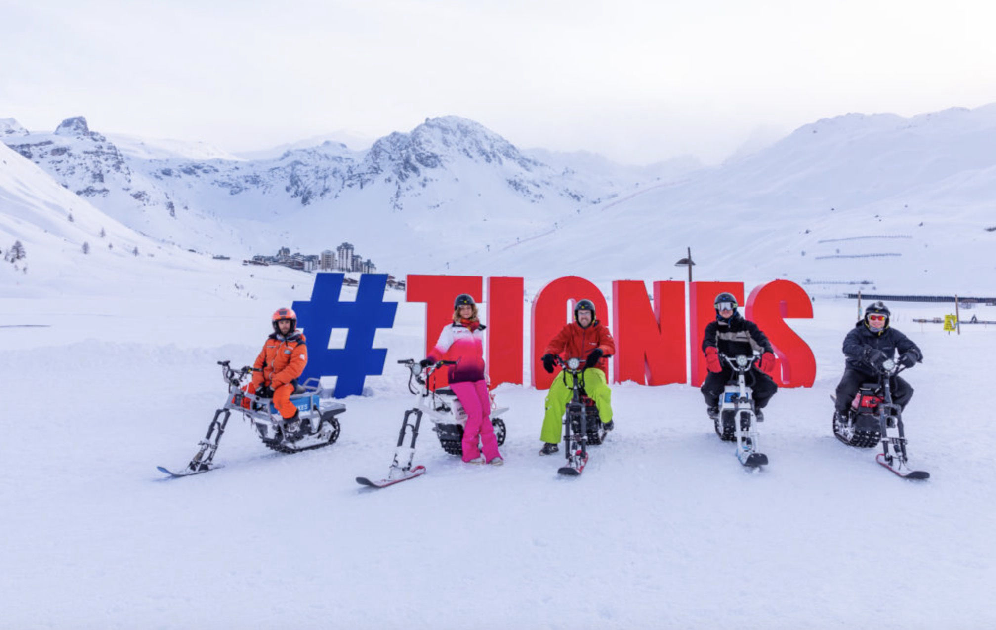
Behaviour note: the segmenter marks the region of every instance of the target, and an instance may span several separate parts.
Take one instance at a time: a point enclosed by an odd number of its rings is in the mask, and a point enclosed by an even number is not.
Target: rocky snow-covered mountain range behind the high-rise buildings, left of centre
[[[12,148],[57,181],[164,241],[248,254],[283,245],[318,252],[350,240],[381,268],[432,264],[383,245],[388,232],[405,236],[413,252],[432,250],[455,221],[476,228],[461,230],[459,242],[487,247],[638,179],[552,167],[457,116],[426,119],[365,151],[327,141],[260,160],[213,152],[194,159],[205,147],[135,138],[123,148],[82,117],[53,134],[13,138]]]

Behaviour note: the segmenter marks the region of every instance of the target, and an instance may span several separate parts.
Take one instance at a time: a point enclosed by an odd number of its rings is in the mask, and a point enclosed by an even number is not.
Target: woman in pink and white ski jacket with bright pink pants
[[[491,396],[484,374],[484,328],[477,318],[474,299],[460,294],[453,301],[453,323],[443,327],[435,347],[422,359],[422,366],[442,358],[456,361],[456,365],[449,366],[448,376],[449,388],[467,412],[467,425],[463,428],[463,461],[500,465],[504,461],[491,425]]]

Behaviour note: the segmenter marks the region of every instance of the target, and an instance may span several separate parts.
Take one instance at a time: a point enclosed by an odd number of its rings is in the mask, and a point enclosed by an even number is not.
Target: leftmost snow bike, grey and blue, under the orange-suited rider
[[[339,416],[346,411],[346,405],[331,400],[332,390],[324,389],[318,378],[309,378],[296,385],[291,394],[291,402],[298,408],[297,419],[285,420],[273,401],[242,390],[246,376],[254,371],[247,366],[235,369],[229,361],[218,361],[222,377],[228,383],[228,396],[221,409],[214,412],[214,418],[207,427],[207,434],[198,443],[199,449],[182,472],[173,473],[157,467],[172,477],[183,477],[206,473],[217,467],[214,455],[218,442],[225,433],[232,411],[242,414],[252,422],[256,435],[263,444],[280,453],[297,453],[335,444],[339,439]]]

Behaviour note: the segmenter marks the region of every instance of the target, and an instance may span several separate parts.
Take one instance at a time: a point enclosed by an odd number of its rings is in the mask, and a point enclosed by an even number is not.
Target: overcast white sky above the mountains
[[[230,151],[465,116],[715,162],[758,129],[996,102],[992,0],[0,0],[0,117]]]

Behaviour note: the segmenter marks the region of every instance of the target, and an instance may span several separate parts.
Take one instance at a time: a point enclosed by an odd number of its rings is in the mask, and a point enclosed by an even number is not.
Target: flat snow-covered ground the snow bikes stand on
[[[202,276],[184,277],[185,295],[211,293]],[[199,298],[196,311],[152,297],[0,298],[9,390],[37,391],[43,377],[67,392],[55,410],[37,395],[6,402],[5,625],[996,623],[985,603],[996,578],[987,500],[996,445],[970,406],[986,374],[962,369],[996,349],[992,326],[949,336],[908,321],[937,308],[893,305],[926,356],[909,375],[907,413],[913,461],[933,474],[925,484],[831,437],[828,393],[854,320],[853,304],[833,301],[817,301],[816,318],[796,326],[817,354],[818,379],[769,406],[771,465],[759,473],[718,441],[696,390],[630,383],[614,388],[618,428],[585,475],[558,478],[558,460],[536,455],[543,392],[505,385],[504,467],[463,465],[423,427],[415,461],[427,475],[365,491],[354,477],[386,472],[414,402],[394,361],[419,356],[422,315],[402,305],[395,328],[377,335],[389,348],[386,373],[369,381],[373,396],[346,399],[335,446],[276,455],[233,419],[218,455],[225,468],[159,481],[154,466],[182,466],[223,400],[214,362],[251,361],[268,308],[301,298],[288,289],[270,287],[269,304]],[[26,313],[47,327],[4,327]],[[979,315],[994,319],[996,309]]]

